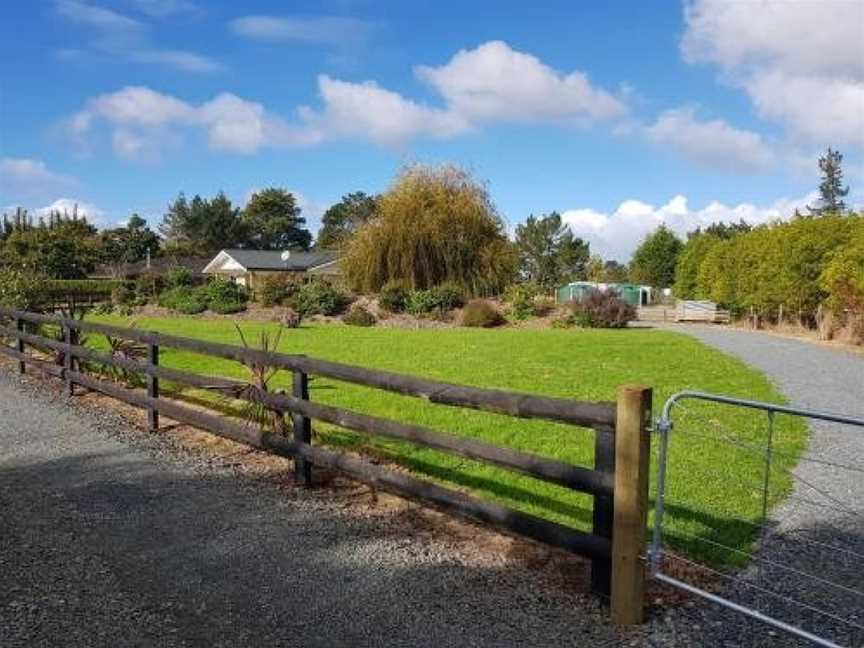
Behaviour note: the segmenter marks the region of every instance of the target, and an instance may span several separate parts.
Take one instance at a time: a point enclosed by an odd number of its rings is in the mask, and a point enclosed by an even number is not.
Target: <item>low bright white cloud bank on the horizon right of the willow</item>
[[[737,223],[743,219],[751,225],[758,225],[786,219],[795,213],[796,208],[803,211],[815,200],[813,193],[795,200],[781,199],[767,206],[751,203],[730,206],[714,201],[694,210],[684,196],[678,195],[660,207],[640,200],[625,200],[611,213],[569,209],[561,216],[574,234],[591,244],[592,252],[604,259],[627,261],[642,239],[660,225],[684,237],[699,226],[716,222]]]

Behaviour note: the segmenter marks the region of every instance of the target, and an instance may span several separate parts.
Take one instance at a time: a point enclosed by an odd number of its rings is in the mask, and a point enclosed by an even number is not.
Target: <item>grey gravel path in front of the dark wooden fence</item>
[[[581,563],[473,557],[362,509],[180,456],[0,367],[4,648],[620,645]]]

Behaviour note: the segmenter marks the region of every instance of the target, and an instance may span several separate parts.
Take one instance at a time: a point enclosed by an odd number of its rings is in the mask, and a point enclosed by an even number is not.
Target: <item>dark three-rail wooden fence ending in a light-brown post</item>
[[[39,335],[40,325],[54,327],[63,334],[54,337]],[[81,331],[146,345],[146,362],[82,346],[78,344]],[[62,379],[70,395],[75,385],[80,385],[143,408],[147,411],[148,426],[153,431],[159,427],[161,414],[179,423],[293,458],[296,479],[300,484],[312,483],[315,467],[335,469],[358,481],[443,511],[586,556],[591,560],[592,590],[609,598],[613,621],[630,625],[643,620],[650,388],[622,386],[618,389],[617,403],[550,398],[467,387],[303,355],[260,351],[7,308],[0,308],[0,338],[14,342],[13,346],[6,342],[0,344],[0,353],[16,360],[20,372],[23,373],[25,365],[30,364]],[[54,351],[62,357],[62,363],[28,353],[28,346]],[[234,360],[247,366],[290,371],[293,376],[291,394],[268,392],[243,381],[162,366],[159,364],[162,347]],[[129,389],[85,373],[82,361],[139,374],[145,379],[146,389]],[[415,396],[438,405],[591,428],[594,433],[594,467],[575,466],[476,439],[315,403],[309,396],[310,375]],[[160,380],[216,388],[236,398],[264,405],[280,416],[287,412],[291,416],[293,432],[290,436],[266,432],[238,419],[184,406],[160,396]],[[418,479],[355,455],[312,445],[312,419],[370,436],[401,439],[588,493],[594,498],[592,530],[590,533],[580,531]]]

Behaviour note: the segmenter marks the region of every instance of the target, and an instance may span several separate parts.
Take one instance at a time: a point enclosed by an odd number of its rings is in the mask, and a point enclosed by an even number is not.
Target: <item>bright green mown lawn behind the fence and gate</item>
[[[129,322],[120,317],[93,319],[117,325]],[[137,326],[239,344],[234,325],[225,319],[141,318]],[[261,330],[276,327],[263,322],[244,322],[241,326],[249,340]],[[101,336],[90,337],[91,345],[103,346]],[[654,387],[655,415],[666,398],[681,389],[782,402],[778,392],[758,371],[692,338],[665,331],[405,330],[328,324],[286,329],[280,350],[479,387],[584,400],[614,400],[618,385],[642,383]],[[186,351],[162,349],[160,360],[166,366],[200,374],[247,376],[245,368],[236,362]],[[287,387],[289,381],[290,376],[283,372],[274,379],[274,384]],[[183,397],[196,400],[212,395],[184,390]],[[432,405],[324,378],[311,382],[311,398],[574,464],[593,465],[590,430]],[[742,551],[750,548],[753,527],[740,519],[758,519],[761,491],[757,484],[762,477],[763,462],[753,452],[712,439],[722,433],[718,432],[719,424],[733,431],[736,438],[755,443],[765,433],[764,417],[746,410],[692,403],[683,412],[690,418],[681,417],[671,444],[667,504],[670,541],[695,557],[716,563],[739,563],[739,554],[718,549],[704,540],[696,541],[693,536],[708,536]],[[694,419],[696,416],[704,420]],[[426,478],[560,523],[590,528],[589,496],[407,443],[369,438],[321,423],[313,426],[315,443],[374,453]],[[806,428],[800,422],[778,420],[776,429],[778,456],[771,486],[772,504],[788,493],[790,479],[783,468],[794,465],[806,441]],[[652,481],[652,492],[653,488]]]

